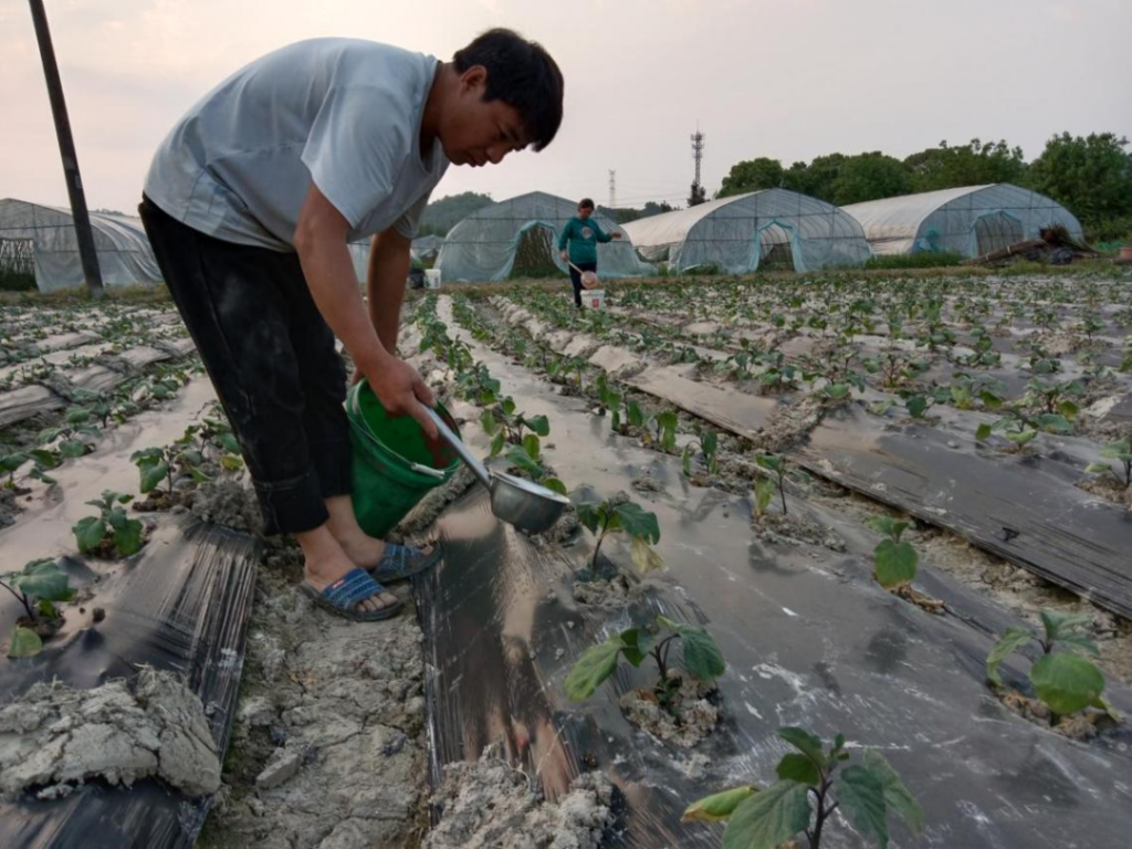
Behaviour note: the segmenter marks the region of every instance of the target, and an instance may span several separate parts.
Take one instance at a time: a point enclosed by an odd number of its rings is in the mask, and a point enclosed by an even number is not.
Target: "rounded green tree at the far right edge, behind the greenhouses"
[[[1029,185],[1065,206],[1087,228],[1132,215],[1127,144],[1113,132],[1054,136],[1030,165]]]

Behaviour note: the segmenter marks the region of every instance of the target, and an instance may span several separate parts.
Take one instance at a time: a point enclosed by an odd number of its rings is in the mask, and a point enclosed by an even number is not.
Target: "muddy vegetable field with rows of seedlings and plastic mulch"
[[[126,764],[0,705],[0,843],[1126,843],[1127,272],[415,293],[400,350],[465,440],[574,507],[526,537],[457,473],[384,624],[293,592],[171,305],[0,309],[3,571],[46,604],[3,593],[5,692],[199,697],[156,748],[100,717]]]

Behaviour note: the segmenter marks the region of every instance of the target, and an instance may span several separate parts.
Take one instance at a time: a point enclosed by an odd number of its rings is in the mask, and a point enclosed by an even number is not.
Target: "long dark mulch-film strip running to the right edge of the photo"
[[[882,432],[865,417],[827,418],[791,458],[1132,617],[1132,515],[1074,487],[1079,469],[988,454],[929,427]]]

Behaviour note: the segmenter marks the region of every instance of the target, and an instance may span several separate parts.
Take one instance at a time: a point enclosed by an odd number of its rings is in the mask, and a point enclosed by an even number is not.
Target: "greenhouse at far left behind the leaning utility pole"
[[[162,282],[139,218],[91,213],[91,226],[103,285]],[[41,292],[80,289],[86,284],[70,209],[0,199],[0,263],[12,271],[34,268]]]

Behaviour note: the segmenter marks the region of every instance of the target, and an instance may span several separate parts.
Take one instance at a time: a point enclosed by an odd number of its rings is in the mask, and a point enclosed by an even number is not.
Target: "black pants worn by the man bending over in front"
[[[154,256],[235,431],[269,534],[326,522],[350,491],[345,366],[295,254],[234,245],[143,197]]]

